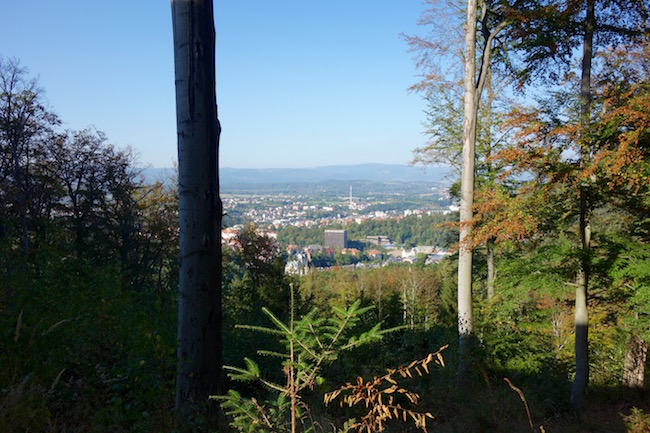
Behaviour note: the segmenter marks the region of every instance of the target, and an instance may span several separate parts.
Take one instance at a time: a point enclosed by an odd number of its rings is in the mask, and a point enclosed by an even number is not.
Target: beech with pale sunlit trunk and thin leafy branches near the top
[[[429,2],[433,4],[433,2]],[[421,83],[414,86],[416,90],[424,90],[429,98],[442,96],[441,101],[433,101],[430,117],[433,124],[429,130],[433,142],[426,148],[416,149],[416,161],[421,162],[451,162],[456,165],[460,156],[460,237],[458,257],[458,332],[461,349],[461,371],[465,369],[468,345],[474,332],[474,319],[472,308],[472,218],[475,187],[475,160],[477,143],[477,124],[480,110],[480,101],[486,83],[489,83],[493,47],[497,35],[506,28],[509,20],[504,11],[495,13],[495,5],[486,1],[469,0],[466,10],[466,23],[464,26],[464,49],[449,42],[442,37],[407,38],[411,50],[418,52],[417,66],[425,69],[426,73]],[[455,3],[448,3],[447,10],[456,10]],[[479,15],[480,9],[480,15]],[[435,14],[429,12],[421,20],[426,24]],[[478,25],[480,23],[480,27]],[[453,29],[454,27],[452,27]],[[455,30],[458,30],[456,27]],[[477,31],[481,38],[477,40]],[[477,56],[477,42],[479,55]],[[464,93],[462,95],[462,132],[458,129],[460,118],[458,100],[461,96],[456,92],[458,81],[448,80],[449,71],[439,67],[440,57],[457,57],[461,53],[463,64],[462,79]],[[450,54],[451,53],[451,54]],[[452,67],[453,68],[453,67]],[[451,76],[454,74],[452,73]],[[431,83],[434,83],[431,86]],[[433,89],[441,89],[440,94]],[[456,96],[454,96],[456,94]],[[490,101],[491,102],[491,101]],[[488,104],[488,107],[491,107]],[[491,109],[491,108],[490,108]],[[456,113],[456,116],[454,116]],[[457,117],[458,116],[458,117]],[[489,115],[487,116],[489,119]],[[488,129],[490,126],[488,125]],[[454,140],[460,139],[462,147],[459,149]],[[488,134],[489,139],[489,134]],[[490,274],[492,277],[493,274]]]

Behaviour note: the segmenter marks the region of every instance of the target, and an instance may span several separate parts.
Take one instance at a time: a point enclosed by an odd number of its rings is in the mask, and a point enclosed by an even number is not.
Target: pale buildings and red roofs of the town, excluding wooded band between
[[[405,219],[448,216],[457,211],[446,195],[441,193],[433,205],[422,203],[422,208],[399,209],[390,199],[361,199],[352,196],[338,200],[315,197],[267,195],[224,195],[226,214],[238,216],[239,221],[222,229],[224,245],[236,248],[237,237],[248,225],[258,235],[272,239],[286,257],[287,273],[303,275],[310,268],[379,267],[391,263],[424,263],[442,260],[450,252],[446,245],[409,245],[391,238],[388,233],[355,234],[346,228],[364,223],[381,222],[398,225]],[[377,206],[381,205],[381,206]],[[288,228],[309,230],[308,244],[278,241],[278,234]],[[282,238],[282,236],[280,236]]]

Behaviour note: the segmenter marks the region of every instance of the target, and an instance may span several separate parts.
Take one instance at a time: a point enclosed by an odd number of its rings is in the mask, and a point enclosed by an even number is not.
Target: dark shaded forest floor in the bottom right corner
[[[527,380],[522,380],[527,383]],[[563,399],[551,400],[530,384],[519,389],[504,380],[472,383],[466,392],[452,391],[447,398],[431,402],[436,419],[431,431],[452,432],[560,432],[616,433],[650,431],[650,404],[641,394],[620,388],[591,388],[589,401],[577,412],[569,405],[570,384],[562,388]],[[426,404],[423,402],[423,405]],[[530,417],[527,410],[530,411]]]

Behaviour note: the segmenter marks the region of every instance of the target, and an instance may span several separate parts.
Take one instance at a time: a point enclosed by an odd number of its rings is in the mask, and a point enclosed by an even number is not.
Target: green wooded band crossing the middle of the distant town
[[[278,230],[278,242],[281,245],[322,245],[325,229],[345,228],[350,240],[363,240],[366,236],[387,236],[396,245],[407,248],[416,245],[448,247],[458,239],[458,232],[453,224],[457,219],[456,214],[433,214],[409,215],[399,219],[372,219],[345,226],[287,226]]]

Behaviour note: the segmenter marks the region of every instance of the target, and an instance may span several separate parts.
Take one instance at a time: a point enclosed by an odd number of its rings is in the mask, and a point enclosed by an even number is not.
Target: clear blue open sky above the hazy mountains
[[[224,167],[405,164],[425,104],[400,32],[421,0],[216,0]],[[176,159],[166,0],[8,1],[0,55],[39,77],[64,127],[94,125],[143,164]]]

